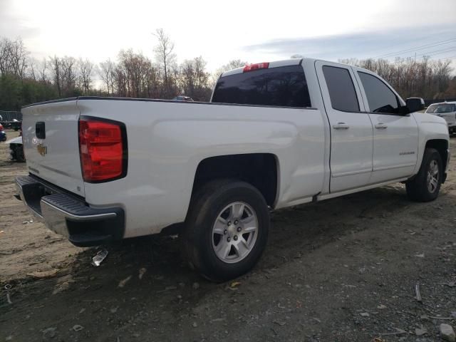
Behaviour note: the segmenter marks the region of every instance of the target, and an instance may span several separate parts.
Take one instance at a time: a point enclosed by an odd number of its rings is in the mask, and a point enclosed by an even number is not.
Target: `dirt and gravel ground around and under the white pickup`
[[[13,197],[24,174],[0,143],[0,341],[440,341],[440,323],[456,328],[455,160],[435,202],[397,184],[275,212],[259,264],[225,284],[188,269],[171,237],[90,265],[95,248]]]

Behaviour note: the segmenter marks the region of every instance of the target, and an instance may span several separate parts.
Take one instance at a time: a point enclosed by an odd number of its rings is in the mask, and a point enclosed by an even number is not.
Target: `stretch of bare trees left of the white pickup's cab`
[[[95,64],[88,59],[51,56],[33,58],[21,38],[0,38],[0,110],[78,95],[164,98],[187,95],[207,101],[214,76],[201,56],[177,63],[174,43],[162,29],[154,36],[155,58],[131,49],[121,50],[115,61]],[[244,66],[231,61],[218,72]],[[98,78],[101,84],[95,84]]]

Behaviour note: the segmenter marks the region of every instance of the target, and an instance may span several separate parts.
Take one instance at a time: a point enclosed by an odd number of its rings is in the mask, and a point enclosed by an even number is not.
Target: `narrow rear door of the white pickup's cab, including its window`
[[[323,103],[331,126],[331,192],[367,185],[372,172],[373,128],[353,70],[316,61]]]

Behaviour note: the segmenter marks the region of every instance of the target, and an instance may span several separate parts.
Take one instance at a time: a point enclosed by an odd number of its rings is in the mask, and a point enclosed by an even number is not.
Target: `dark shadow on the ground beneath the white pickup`
[[[403,186],[394,185],[273,212],[269,243],[254,272],[278,268],[296,255],[356,234],[373,223],[385,224],[390,215],[413,205],[417,204],[408,201]],[[178,237],[125,239],[107,249],[108,257],[99,267],[90,264],[97,249],[78,253],[64,272],[73,278],[70,286],[76,286],[76,291],[142,289],[147,296],[181,288],[189,291],[195,282],[207,289],[227,286],[212,284],[195,274],[181,257]],[[95,295],[96,291],[88,294]]]

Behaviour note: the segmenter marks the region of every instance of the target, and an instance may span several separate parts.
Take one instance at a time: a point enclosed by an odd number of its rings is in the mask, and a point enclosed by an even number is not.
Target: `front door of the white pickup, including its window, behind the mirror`
[[[410,114],[400,113],[405,103],[378,75],[356,69],[356,77],[374,128],[371,183],[412,175],[417,163],[418,124]]]

